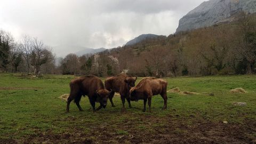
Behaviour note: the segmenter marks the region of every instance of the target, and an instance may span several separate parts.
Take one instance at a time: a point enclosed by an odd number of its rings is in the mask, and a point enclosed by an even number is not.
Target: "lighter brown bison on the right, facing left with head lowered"
[[[132,87],[130,90],[130,98],[131,101],[144,100],[144,109],[143,112],[146,111],[146,103],[148,100],[149,111],[151,112],[151,98],[153,95],[161,94],[164,99],[164,107],[167,107],[167,82],[163,79],[155,78],[155,77],[146,77],[143,78],[138,85]]]

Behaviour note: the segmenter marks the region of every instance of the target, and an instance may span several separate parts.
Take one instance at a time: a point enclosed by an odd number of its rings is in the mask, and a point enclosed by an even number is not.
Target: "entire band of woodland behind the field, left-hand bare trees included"
[[[39,74],[94,74],[122,72],[137,76],[196,76],[253,74],[256,60],[256,14],[240,14],[232,23],[147,38],[94,55],[68,54],[54,66],[51,47],[37,38],[17,42],[0,35],[0,70]],[[167,27],[167,26],[166,26]]]

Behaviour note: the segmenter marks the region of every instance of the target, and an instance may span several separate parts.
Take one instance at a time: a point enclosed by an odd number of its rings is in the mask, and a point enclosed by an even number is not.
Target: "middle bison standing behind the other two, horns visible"
[[[113,97],[115,92],[120,93],[122,103],[123,103],[123,109],[124,109],[124,103],[125,99],[129,103],[129,107],[131,108],[131,101],[130,101],[130,89],[131,87],[135,86],[135,82],[137,80],[137,76],[127,76],[125,74],[119,74],[117,76],[108,77],[105,81],[105,86],[107,90],[113,90],[109,94],[109,100],[111,102],[112,107],[115,107],[113,103]]]

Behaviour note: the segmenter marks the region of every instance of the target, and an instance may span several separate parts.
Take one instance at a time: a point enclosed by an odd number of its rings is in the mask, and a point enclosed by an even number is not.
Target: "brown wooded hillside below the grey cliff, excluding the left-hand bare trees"
[[[117,47],[81,63],[80,73],[109,76],[128,71],[157,77],[252,74],[256,60],[255,20],[255,14],[241,14],[241,19],[233,23]]]

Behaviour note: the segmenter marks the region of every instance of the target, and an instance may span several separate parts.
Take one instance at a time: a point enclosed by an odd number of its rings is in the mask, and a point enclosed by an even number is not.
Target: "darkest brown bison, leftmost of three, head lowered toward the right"
[[[108,96],[111,93],[105,89],[101,79],[97,76],[88,75],[73,79],[70,84],[70,95],[68,97],[67,109],[69,112],[69,105],[72,100],[75,101],[76,106],[82,111],[79,101],[82,95],[88,95],[93,111],[95,111],[95,102],[99,102],[100,106],[97,110],[106,108]]]

